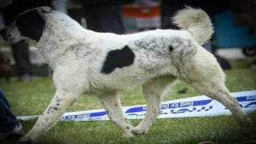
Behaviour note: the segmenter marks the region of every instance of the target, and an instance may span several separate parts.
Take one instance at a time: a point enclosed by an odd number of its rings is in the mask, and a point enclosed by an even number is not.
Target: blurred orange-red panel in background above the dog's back
[[[160,6],[122,6],[122,15],[127,18],[153,18],[160,16]]]

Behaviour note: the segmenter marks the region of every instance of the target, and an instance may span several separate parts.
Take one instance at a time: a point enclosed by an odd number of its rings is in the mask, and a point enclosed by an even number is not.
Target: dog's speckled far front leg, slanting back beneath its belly
[[[98,99],[100,102],[102,102],[102,106],[106,110],[106,114],[110,120],[114,122],[115,126],[122,130],[123,136],[134,136],[131,133],[131,129],[134,128],[134,126],[132,126],[130,122],[127,121],[127,118],[123,114],[118,94],[116,92],[102,94],[101,96],[98,96]]]

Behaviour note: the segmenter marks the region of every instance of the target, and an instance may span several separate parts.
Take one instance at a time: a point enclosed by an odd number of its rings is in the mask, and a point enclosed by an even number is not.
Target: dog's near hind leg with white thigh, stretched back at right
[[[202,94],[221,102],[239,123],[250,124],[250,118],[242,111],[237,99],[227,90],[225,74],[214,55],[196,43],[191,46],[184,46],[182,50],[187,51],[172,55],[172,63],[177,69],[177,78],[187,82]],[[194,53],[192,53],[193,50]]]

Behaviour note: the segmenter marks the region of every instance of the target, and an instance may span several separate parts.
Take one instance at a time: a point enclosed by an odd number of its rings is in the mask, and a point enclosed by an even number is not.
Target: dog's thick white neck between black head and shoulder
[[[82,28],[78,22],[65,14],[52,14],[47,19],[42,37],[36,46],[49,65],[54,68],[55,62],[66,49],[77,45],[78,42],[86,42],[86,38],[92,33],[94,32]]]

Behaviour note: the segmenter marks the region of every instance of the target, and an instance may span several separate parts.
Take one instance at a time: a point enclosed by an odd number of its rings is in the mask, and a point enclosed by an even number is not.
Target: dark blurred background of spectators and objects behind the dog
[[[178,29],[171,22],[175,12],[184,6],[198,7],[210,15],[215,29],[210,42],[203,47],[215,55],[222,68],[232,69],[230,61],[234,60],[242,60],[246,67],[256,68],[255,0],[14,0],[0,18],[0,29],[14,21],[14,11],[18,14],[37,6],[52,6],[86,29],[115,34]],[[9,59],[11,70],[6,74],[2,67],[8,65]],[[17,76],[21,82],[30,82],[32,76],[50,74],[52,70],[34,42],[10,45],[0,38],[1,78],[8,80]]]

